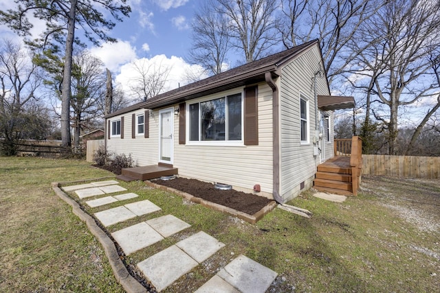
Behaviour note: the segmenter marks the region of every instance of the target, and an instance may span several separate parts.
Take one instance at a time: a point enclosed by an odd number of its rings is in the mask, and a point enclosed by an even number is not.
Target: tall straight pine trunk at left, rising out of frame
[[[72,54],[74,51],[75,38],[76,0],[71,1],[69,20],[67,22],[67,38],[65,50],[65,62],[63,71],[63,85],[61,93],[61,145],[69,148],[72,145],[70,139],[70,96],[72,84]]]

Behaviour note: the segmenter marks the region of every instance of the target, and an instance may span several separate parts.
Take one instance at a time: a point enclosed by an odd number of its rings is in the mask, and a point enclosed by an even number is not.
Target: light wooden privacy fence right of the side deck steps
[[[440,157],[362,155],[362,174],[402,178],[440,178]]]

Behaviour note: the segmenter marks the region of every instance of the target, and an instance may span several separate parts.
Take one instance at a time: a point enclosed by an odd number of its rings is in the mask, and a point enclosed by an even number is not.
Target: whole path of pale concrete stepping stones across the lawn
[[[75,192],[78,198],[89,198],[102,196],[115,192],[125,191],[124,187],[118,185],[118,181],[107,180],[96,183],[87,183],[63,187],[66,192]],[[116,196],[105,196],[94,200],[87,200],[89,207],[100,207],[112,202],[136,198],[137,194],[119,194]],[[95,213],[96,218],[104,226],[123,222],[140,215],[160,211],[149,200],[141,200],[124,204],[113,209],[106,209]],[[153,218],[146,222],[140,222],[132,226],[122,228],[111,233],[113,239],[120,245],[126,255],[137,250],[151,246],[170,235],[183,231],[190,227],[190,224],[176,218],[174,215],[164,215]],[[173,284],[184,274],[205,261],[225,244],[203,231],[199,231],[186,239],[177,242],[140,263],[137,268],[144,274],[160,292]],[[197,293],[264,293],[270,287],[278,274],[270,268],[266,268],[244,255],[239,255],[228,265],[222,268],[210,280],[203,284]]]

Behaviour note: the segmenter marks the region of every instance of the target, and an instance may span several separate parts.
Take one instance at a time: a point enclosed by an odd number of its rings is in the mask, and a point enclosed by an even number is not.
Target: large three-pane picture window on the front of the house
[[[241,141],[241,93],[189,105],[190,141]]]

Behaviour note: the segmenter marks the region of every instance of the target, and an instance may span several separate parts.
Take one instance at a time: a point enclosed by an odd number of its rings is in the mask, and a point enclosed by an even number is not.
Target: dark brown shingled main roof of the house
[[[188,99],[201,97],[202,95],[209,95],[211,93],[218,93],[219,91],[233,89],[238,86],[245,86],[246,84],[261,82],[265,80],[264,75],[266,72],[272,72],[272,75],[276,77],[276,70],[279,67],[285,65],[287,61],[298,56],[298,54],[300,54],[303,50],[317,43],[318,40],[311,40],[302,45],[293,47],[292,49],[281,51],[277,54],[261,58],[260,60],[241,65],[240,67],[230,69],[217,75],[212,75],[204,80],[199,80],[166,93],[161,93],[155,97],[152,97],[151,99],[148,99],[146,102],[133,104],[122,110],[111,113],[107,115],[106,118],[142,108],[155,109],[171,104],[177,104]]]

